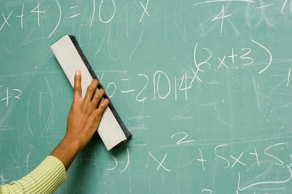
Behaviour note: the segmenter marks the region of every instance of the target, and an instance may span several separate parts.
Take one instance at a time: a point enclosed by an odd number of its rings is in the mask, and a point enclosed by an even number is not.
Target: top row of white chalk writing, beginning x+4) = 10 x
[[[90,27],[92,26],[92,23],[93,23],[93,20],[94,20],[94,16],[96,14],[95,13],[96,12],[96,8],[95,8],[96,7],[96,3],[98,3],[98,2],[96,2],[97,0],[91,0],[91,1],[92,1],[93,10],[92,10],[92,14],[90,15],[90,18],[89,18],[90,19]],[[102,15],[104,15],[104,13],[102,11],[102,7],[103,7],[103,3],[105,1],[112,3],[112,9],[113,10],[111,12],[111,16],[108,19],[103,18],[105,16],[102,16]],[[149,4],[149,0],[143,0],[143,1],[144,2],[140,1],[141,7],[143,8],[143,11],[141,13],[141,16],[139,16],[140,17],[140,20],[139,20],[140,22],[142,22],[143,17],[145,15],[150,16],[149,10],[147,10],[148,4]],[[195,4],[193,4],[193,6],[198,6],[199,4],[204,4],[204,3],[208,3],[208,4],[210,4],[210,3],[216,3],[216,2],[221,2],[221,1],[222,0],[206,0],[206,1],[201,1],[201,2],[195,3]],[[224,0],[224,1],[233,1],[233,0]],[[283,14],[283,15],[286,14],[286,11],[285,10],[287,8],[289,9],[289,7],[290,7],[290,11],[292,13],[292,3],[290,3],[290,6],[289,6],[287,4],[287,1],[288,0],[285,0],[284,1],[283,6],[282,6],[281,11],[280,11],[281,14]],[[253,0],[237,0],[237,2],[245,2],[245,3],[250,3],[250,4],[256,3]],[[58,26],[60,24],[60,21],[62,19],[62,10],[64,8],[61,8],[58,0],[55,0],[55,3],[57,5],[58,11],[59,11],[59,19],[58,19],[58,21],[56,21],[55,28],[53,29],[53,31],[51,33],[49,33],[49,35],[48,35],[47,38],[50,38],[52,36],[52,34],[56,31],[56,29],[58,28]],[[27,14],[24,13],[25,4],[27,4],[27,3],[23,3],[22,4],[22,9],[21,9],[22,11],[21,11],[21,13],[17,14],[17,16],[16,16],[16,17],[20,18],[20,21],[19,22],[20,22],[20,27],[21,28],[23,28],[23,18],[25,16],[28,16]],[[248,4],[248,10],[251,9],[250,8],[250,6],[251,6],[250,4]],[[259,25],[259,23],[264,20],[264,21],[266,21],[266,23],[267,23],[268,26],[273,27],[273,24],[269,21],[268,17],[266,16],[266,10],[265,10],[267,7],[270,7],[270,6],[273,6],[273,5],[274,5],[274,3],[265,5],[264,2],[263,2],[263,0],[259,0],[259,6],[255,6],[255,8],[256,9],[259,9],[260,12],[261,12],[261,16],[260,16],[260,19],[259,19],[259,22],[258,22],[257,25]],[[128,10],[128,3],[126,3],[126,6],[127,6],[127,10]],[[116,4],[115,4],[114,0],[100,0],[100,3],[98,5],[98,7],[99,7],[98,16],[99,16],[99,21],[100,22],[102,22],[102,23],[109,23],[115,17],[115,15],[116,15],[116,9],[117,8],[116,8]],[[50,9],[50,7],[46,7],[46,9],[45,8],[42,8],[41,7],[41,3],[37,2],[36,7],[34,7],[33,9],[30,10],[30,13],[31,14],[35,14],[37,16],[37,25],[39,27],[41,26],[41,23],[40,23],[41,14],[45,14],[49,9]],[[69,6],[67,9],[72,12],[72,16],[69,16],[68,17],[69,19],[72,19],[74,17],[80,16],[80,14],[81,14],[78,11],[78,5]],[[2,17],[4,19],[4,22],[2,23],[2,25],[0,27],[0,31],[2,30],[2,28],[4,26],[11,27],[11,25],[9,24],[9,18],[11,17],[11,15],[12,15],[13,12],[14,11],[8,12],[9,14],[7,14],[6,16],[2,13]],[[214,22],[216,20],[221,20],[220,34],[222,33],[224,20],[228,21],[233,26],[234,30],[238,33],[237,28],[235,27],[235,25],[232,23],[232,21],[230,19],[233,16],[233,14],[232,13],[225,14],[226,12],[227,12],[227,9],[224,8],[224,5],[222,4],[222,9],[219,10],[219,14],[218,15],[215,15],[215,17],[213,19],[211,19],[210,21],[211,22]],[[250,27],[252,27],[251,24],[250,24],[250,21],[249,21],[250,20],[249,15],[247,14],[246,17],[247,17],[247,24]],[[176,21],[175,21],[175,23],[176,23]],[[176,23],[176,25],[177,25],[177,23]],[[178,27],[178,25],[177,25],[177,27]],[[178,28],[178,30],[180,31],[179,28]],[[180,31],[180,33],[183,36],[183,33],[181,31]],[[185,40],[185,37],[183,37],[183,38]]]

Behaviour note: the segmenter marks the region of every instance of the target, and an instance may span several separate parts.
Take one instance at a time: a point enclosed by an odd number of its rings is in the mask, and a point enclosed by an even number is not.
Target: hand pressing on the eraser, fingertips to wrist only
[[[81,75],[80,71],[76,71],[73,103],[68,114],[66,136],[72,141],[77,141],[81,149],[91,140],[99,125],[102,113],[109,104],[109,100],[104,99],[96,108],[105,94],[103,89],[94,94],[98,84],[97,80],[91,81],[83,99],[81,96]]]

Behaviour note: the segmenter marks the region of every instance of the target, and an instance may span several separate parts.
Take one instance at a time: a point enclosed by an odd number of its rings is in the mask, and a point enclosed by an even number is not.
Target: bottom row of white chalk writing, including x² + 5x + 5
[[[192,143],[192,142],[195,142],[195,140],[189,139],[188,138],[188,134],[185,133],[185,132],[178,132],[178,133],[172,135],[169,138],[178,140],[176,142],[176,145],[181,145],[181,144],[188,145],[188,146],[195,146],[196,145],[196,144]],[[146,145],[147,144],[145,144],[145,145],[129,145],[129,146],[146,146]],[[254,156],[254,162],[250,161],[250,162],[252,162],[250,164],[250,166],[251,167],[253,166],[253,169],[255,168],[255,165],[254,165],[255,163],[256,163],[257,167],[260,168],[262,163],[267,162],[266,159],[260,160],[260,157],[262,157],[263,155],[265,157],[269,158],[268,161],[271,162],[271,165],[273,163],[275,165],[279,165],[279,166],[283,167],[283,171],[285,171],[285,173],[286,173],[284,179],[280,178],[280,179],[277,180],[277,178],[274,178],[274,180],[270,180],[270,181],[261,180],[261,181],[258,181],[258,182],[254,182],[254,183],[252,183],[250,185],[244,185],[244,186],[242,185],[242,182],[240,182],[240,179],[242,179],[242,175],[240,175],[240,172],[238,172],[238,179],[237,179],[237,183],[238,184],[237,184],[237,189],[235,191],[235,193],[238,194],[239,191],[244,191],[244,190],[246,190],[248,188],[255,187],[256,185],[283,184],[283,183],[289,182],[289,180],[292,178],[292,170],[291,170],[292,163],[289,164],[289,165],[284,164],[285,162],[283,162],[283,160],[281,158],[275,157],[275,155],[273,154],[273,152],[274,153],[278,153],[279,150],[284,150],[283,146],[287,146],[287,145],[288,145],[287,142],[274,144],[272,146],[266,147],[261,152],[257,152],[256,146],[254,146],[254,151],[251,151],[251,152],[242,151],[241,153],[239,152],[237,154],[237,156],[233,156],[233,155],[230,154],[227,157],[226,156],[227,152],[226,152],[226,150],[224,151],[224,149],[228,148],[229,145],[228,144],[222,144],[222,145],[215,146],[213,153],[214,153],[215,161],[222,160],[222,162],[225,163],[225,166],[219,167],[219,168],[222,168],[222,169],[227,169],[227,168],[233,169],[237,165],[244,166],[244,167],[248,168],[247,162],[244,161],[244,156],[247,155],[247,154]],[[169,146],[174,147],[175,145],[167,145],[167,147],[169,147]],[[162,147],[164,147],[164,146],[162,146]],[[195,165],[201,165],[201,170],[202,171],[208,171],[208,169],[205,169],[204,165],[205,165],[205,163],[210,162],[210,161],[206,160],[206,158],[203,157],[204,152],[201,150],[201,148],[198,148],[198,153],[199,154],[197,156],[199,156],[199,157],[195,157],[196,161],[198,161],[198,162]],[[225,156],[223,156],[220,153],[225,153]],[[130,163],[130,153],[129,153],[129,149],[128,148],[127,148],[127,154],[128,154],[127,164],[126,164],[125,168],[122,171],[120,171],[120,173],[123,173],[128,168],[129,163]],[[155,167],[156,171],[164,171],[166,173],[170,173],[172,171],[170,166],[166,166],[164,164],[164,162],[167,161],[167,153],[165,153],[162,156],[157,156],[157,154],[154,154],[153,151],[151,151],[151,152],[148,152],[148,154],[153,159],[153,161],[155,161],[155,163],[157,162],[157,167]],[[115,164],[113,165],[114,167],[107,169],[109,171],[112,171],[112,170],[116,169],[118,167],[118,164],[119,164],[118,160],[114,156],[111,156],[111,158],[113,159]],[[160,158],[160,159],[158,159],[158,158]],[[210,158],[210,156],[209,156],[209,158]],[[292,159],[292,155],[291,154],[289,154],[289,158]],[[169,164],[169,161],[167,163]],[[148,166],[146,165],[146,167],[148,167]],[[204,192],[204,191],[212,193],[213,189],[204,188],[201,192]]]

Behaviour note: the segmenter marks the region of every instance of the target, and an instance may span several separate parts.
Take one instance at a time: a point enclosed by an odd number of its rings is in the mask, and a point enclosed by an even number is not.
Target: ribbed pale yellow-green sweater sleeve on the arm
[[[0,194],[53,194],[66,178],[64,164],[48,156],[27,176],[0,186]]]

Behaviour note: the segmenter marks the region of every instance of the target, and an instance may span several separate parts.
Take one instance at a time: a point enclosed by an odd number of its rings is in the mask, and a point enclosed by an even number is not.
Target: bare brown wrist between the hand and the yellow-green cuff
[[[66,171],[69,169],[73,160],[82,149],[80,142],[75,140],[76,138],[66,135],[50,154],[64,164]]]

